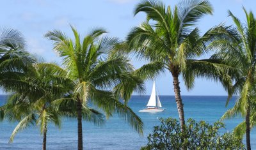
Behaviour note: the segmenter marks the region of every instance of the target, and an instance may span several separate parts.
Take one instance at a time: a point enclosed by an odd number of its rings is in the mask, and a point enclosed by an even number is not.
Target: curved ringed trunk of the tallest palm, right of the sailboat
[[[180,127],[181,131],[185,128],[185,118],[184,118],[184,110],[183,110],[183,103],[180,96],[180,82],[179,82],[179,75],[178,73],[172,73],[173,75],[173,86],[174,86],[174,93],[175,93],[175,100],[177,103],[177,109],[179,112],[179,119],[180,119]]]

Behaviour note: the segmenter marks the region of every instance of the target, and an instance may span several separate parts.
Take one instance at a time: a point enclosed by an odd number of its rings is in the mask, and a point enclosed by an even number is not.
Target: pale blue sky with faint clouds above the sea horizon
[[[164,0],[163,3],[173,8],[179,1],[182,0]],[[70,25],[76,27],[82,36],[95,27],[103,27],[108,31],[108,36],[125,40],[131,28],[139,26],[146,19],[144,13],[139,13],[135,17],[133,15],[138,2],[136,0],[1,1],[0,27],[19,30],[24,34],[29,52],[43,57],[45,61],[60,63],[60,57],[52,50],[52,42],[44,38],[47,31],[60,29],[72,37]],[[202,34],[222,22],[232,25],[232,20],[227,14],[228,10],[232,11],[242,22],[245,22],[242,6],[246,10],[252,10],[256,15],[256,1],[254,0],[210,0],[210,2],[214,8],[214,14],[206,15],[198,22]],[[205,54],[203,57],[210,56],[211,54]],[[146,63],[134,57],[131,57],[131,61],[136,68]],[[159,75],[156,79],[159,94],[173,95],[172,82],[172,75],[168,71]],[[147,81],[145,85],[147,88],[145,94],[150,94],[152,81]],[[195,87],[188,91],[180,78],[180,88],[182,95],[227,95],[220,83],[209,79],[196,79]],[[3,92],[0,89],[1,93]]]

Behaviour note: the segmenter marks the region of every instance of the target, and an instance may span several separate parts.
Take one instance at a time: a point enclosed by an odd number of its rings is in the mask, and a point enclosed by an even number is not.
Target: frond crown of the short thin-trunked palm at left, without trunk
[[[65,75],[56,64],[35,63],[26,76],[20,77],[22,83],[13,89],[13,94],[0,111],[9,121],[19,121],[10,137],[28,126],[36,125],[41,133],[47,130],[49,122],[60,128],[60,114],[51,105],[51,101],[67,91]]]

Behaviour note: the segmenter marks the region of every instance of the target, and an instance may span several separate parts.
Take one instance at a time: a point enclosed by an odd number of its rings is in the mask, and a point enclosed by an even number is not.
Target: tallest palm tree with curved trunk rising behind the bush
[[[194,77],[187,73],[187,66],[196,56],[205,51],[205,41],[211,36],[200,37],[196,22],[206,14],[212,14],[209,1],[186,0],[180,1],[173,11],[161,1],[141,1],[134,11],[147,14],[147,22],[134,27],[127,37],[129,49],[138,57],[149,60],[139,74],[145,78],[157,75],[165,69],[172,73],[175,100],[179,112],[180,125],[184,128],[184,110],[180,96],[179,77],[182,74],[186,86],[193,86]]]

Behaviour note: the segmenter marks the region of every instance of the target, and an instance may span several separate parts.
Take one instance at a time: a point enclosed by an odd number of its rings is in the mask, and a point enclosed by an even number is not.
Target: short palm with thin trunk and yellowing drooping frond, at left
[[[65,110],[58,109],[53,101],[67,93],[72,82],[66,79],[67,72],[56,64],[36,63],[34,66],[36,73],[23,80],[29,87],[26,86],[21,93],[15,92],[0,110],[10,121],[19,121],[10,142],[20,130],[36,125],[44,135],[42,149],[46,149],[47,125],[52,122],[60,128],[60,116],[67,114]],[[104,116],[97,110],[83,107],[83,115],[87,121],[104,123]]]

